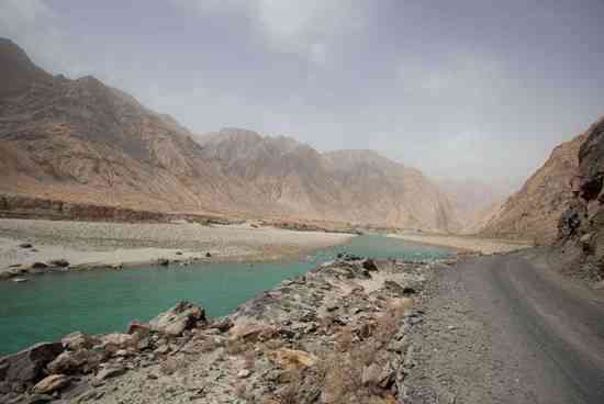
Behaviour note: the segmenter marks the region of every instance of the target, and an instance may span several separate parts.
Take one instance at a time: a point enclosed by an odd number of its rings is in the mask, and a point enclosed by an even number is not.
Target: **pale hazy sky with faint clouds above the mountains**
[[[525,178],[604,114],[604,0],[0,0],[0,36],[197,133]]]

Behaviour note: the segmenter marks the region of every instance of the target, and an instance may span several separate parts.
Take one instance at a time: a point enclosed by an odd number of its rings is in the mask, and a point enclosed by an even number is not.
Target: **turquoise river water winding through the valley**
[[[0,356],[74,330],[124,332],[132,319],[148,321],[181,300],[201,304],[211,317],[225,315],[284,279],[303,274],[338,252],[373,258],[446,258],[451,250],[382,236],[359,236],[309,256],[265,263],[199,263],[187,267],[88,270],[0,282]]]

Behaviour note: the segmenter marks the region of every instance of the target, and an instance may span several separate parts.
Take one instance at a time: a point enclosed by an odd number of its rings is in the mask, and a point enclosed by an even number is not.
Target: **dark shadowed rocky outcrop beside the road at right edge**
[[[559,242],[579,251],[584,274],[604,278],[604,117],[585,133],[579,152],[579,181],[559,221]]]

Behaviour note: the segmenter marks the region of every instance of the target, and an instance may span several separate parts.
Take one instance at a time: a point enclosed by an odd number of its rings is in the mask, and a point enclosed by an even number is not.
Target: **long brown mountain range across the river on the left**
[[[160,212],[459,227],[435,184],[373,152],[321,154],[238,128],[199,136],[93,77],[45,72],[8,40],[0,40],[0,61],[1,193]]]

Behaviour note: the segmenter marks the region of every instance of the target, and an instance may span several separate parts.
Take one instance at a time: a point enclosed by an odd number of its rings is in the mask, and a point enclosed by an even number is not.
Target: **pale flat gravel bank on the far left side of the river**
[[[31,270],[167,261],[270,261],[345,244],[353,237],[251,224],[208,226],[0,218],[0,277]]]

